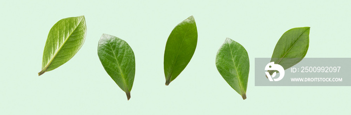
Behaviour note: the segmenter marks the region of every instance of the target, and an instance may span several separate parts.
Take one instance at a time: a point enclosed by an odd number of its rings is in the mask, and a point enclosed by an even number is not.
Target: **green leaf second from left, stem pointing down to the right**
[[[118,37],[102,34],[97,54],[107,74],[125,92],[129,100],[135,76],[135,57],[131,47]]]

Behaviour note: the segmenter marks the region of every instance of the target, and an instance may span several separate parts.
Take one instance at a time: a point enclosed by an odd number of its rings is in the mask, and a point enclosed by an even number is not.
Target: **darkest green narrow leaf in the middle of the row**
[[[187,67],[198,42],[198,30],[193,16],[188,17],[170,33],[164,50],[165,85],[168,86]]]

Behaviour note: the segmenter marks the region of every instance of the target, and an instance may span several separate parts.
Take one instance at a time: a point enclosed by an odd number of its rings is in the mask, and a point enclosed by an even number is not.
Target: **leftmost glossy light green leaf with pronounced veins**
[[[84,16],[58,21],[51,29],[45,43],[42,71],[54,70],[70,60],[82,47],[87,29]]]

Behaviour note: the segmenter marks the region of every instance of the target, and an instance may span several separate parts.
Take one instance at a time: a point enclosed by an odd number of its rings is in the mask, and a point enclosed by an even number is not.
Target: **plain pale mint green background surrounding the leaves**
[[[255,87],[254,58],[270,57],[290,28],[310,26],[306,57],[351,57],[350,0],[159,0],[0,2],[0,115],[340,115],[351,87]],[[60,19],[85,15],[86,41],[66,64],[38,77],[45,41]],[[194,15],[198,46],[165,86],[163,53],[175,25]],[[102,33],[135,53],[131,99],[103,69]],[[226,37],[250,57],[247,99],[221,77],[215,57]]]

